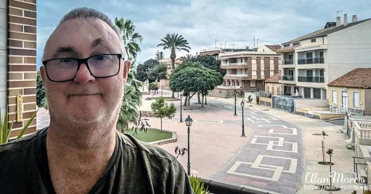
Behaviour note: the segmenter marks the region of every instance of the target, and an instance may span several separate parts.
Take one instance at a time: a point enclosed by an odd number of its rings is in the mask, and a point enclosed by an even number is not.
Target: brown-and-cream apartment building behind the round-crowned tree
[[[221,50],[220,67],[226,69],[222,86],[211,95],[228,98],[234,89],[238,92],[264,90],[264,80],[278,73],[280,45],[261,45],[255,48]]]

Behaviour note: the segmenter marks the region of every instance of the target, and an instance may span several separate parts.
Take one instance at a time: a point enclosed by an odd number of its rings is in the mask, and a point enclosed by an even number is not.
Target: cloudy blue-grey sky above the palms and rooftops
[[[255,45],[280,44],[336,21],[337,11],[342,11],[342,22],[344,14],[349,22],[355,14],[358,20],[371,17],[370,0],[38,0],[38,67],[47,38],[60,18],[76,7],[132,20],[144,39],[137,63],[163,51],[157,45],[166,34],[180,34],[188,40],[190,52],[178,51],[178,58],[205,48],[253,46],[254,36]],[[170,58],[168,50],[163,52]]]

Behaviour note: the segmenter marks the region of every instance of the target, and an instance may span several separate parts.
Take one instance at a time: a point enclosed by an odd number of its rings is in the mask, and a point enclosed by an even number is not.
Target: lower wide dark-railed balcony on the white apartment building
[[[309,88],[325,88],[324,69],[298,69],[296,85]]]

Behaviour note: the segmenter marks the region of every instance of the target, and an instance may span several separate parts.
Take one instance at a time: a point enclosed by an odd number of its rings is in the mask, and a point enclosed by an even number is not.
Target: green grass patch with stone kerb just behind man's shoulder
[[[131,128],[129,127],[129,129]],[[133,135],[135,138],[141,140],[142,142],[155,142],[158,140],[170,139],[171,137],[173,137],[173,133],[155,128],[148,128],[147,133],[137,130],[136,135],[134,135],[134,130],[127,130],[125,133]]]

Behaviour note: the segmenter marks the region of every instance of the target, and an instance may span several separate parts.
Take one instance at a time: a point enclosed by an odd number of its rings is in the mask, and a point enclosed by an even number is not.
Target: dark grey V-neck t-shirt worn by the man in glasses
[[[0,145],[0,194],[55,194],[46,155],[47,128]],[[116,133],[114,153],[88,194],[194,194],[173,155]]]

